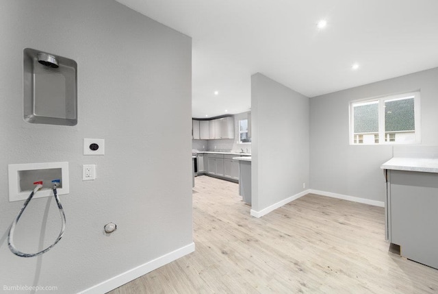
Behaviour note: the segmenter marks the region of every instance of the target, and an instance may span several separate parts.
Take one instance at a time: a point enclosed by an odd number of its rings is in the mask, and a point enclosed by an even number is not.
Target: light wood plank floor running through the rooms
[[[256,219],[238,184],[195,181],[196,251],[111,294],[438,292],[437,269],[389,252],[383,208],[309,194]]]

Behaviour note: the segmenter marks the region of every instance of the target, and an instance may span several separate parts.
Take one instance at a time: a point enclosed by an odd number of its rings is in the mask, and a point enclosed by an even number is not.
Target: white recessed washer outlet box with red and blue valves
[[[9,201],[25,200],[34,190],[34,182],[42,181],[42,188],[32,199],[53,196],[52,180],[60,179],[56,189],[58,195],[70,192],[68,184],[68,162],[42,162],[9,164]]]

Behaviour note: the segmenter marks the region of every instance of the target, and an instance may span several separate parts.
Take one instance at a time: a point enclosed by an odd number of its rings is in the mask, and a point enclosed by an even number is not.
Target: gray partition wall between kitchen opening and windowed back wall
[[[309,98],[256,73],[251,112],[252,206],[260,211],[309,185]]]

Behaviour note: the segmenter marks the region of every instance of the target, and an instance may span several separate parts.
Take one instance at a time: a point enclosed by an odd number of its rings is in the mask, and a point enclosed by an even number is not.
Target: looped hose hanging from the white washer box
[[[18,220],[20,219],[21,215],[23,214],[23,212],[25,211],[27,204],[29,204],[29,201],[32,199],[32,197],[34,197],[35,193],[40,190],[40,188],[42,188],[42,182],[40,182],[40,184],[38,184],[36,186],[36,188],[34,188],[34,191],[32,191],[29,195],[29,197],[27,197],[25,204],[23,205],[23,208],[21,208],[20,212],[18,212],[18,215],[16,216],[16,218],[14,219],[14,221],[12,222],[12,225],[9,229],[9,233],[8,233],[8,246],[10,251],[15,254],[16,256],[20,256],[20,257],[34,257],[34,256],[38,256],[41,254],[44,254],[46,252],[48,252],[50,249],[52,249],[53,246],[56,245],[56,243],[58,243],[61,238],[62,235],[64,234],[64,231],[66,230],[66,215],[64,214],[64,209],[62,209],[62,205],[60,202],[60,199],[57,197],[57,191],[56,191],[56,187],[59,185],[59,181],[53,181],[53,195],[55,195],[55,199],[56,199],[56,204],[57,204],[57,208],[60,210],[60,215],[61,215],[61,220],[62,220],[62,227],[61,227],[61,232],[59,234],[59,236],[57,236],[55,242],[53,242],[52,245],[50,245],[49,247],[47,247],[46,249],[34,253],[34,254],[29,254],[29,253],[23,253],[21,251],[19,251],[18,249],[16,249],[16,247],[14,246],[14,230],[15,230],[15,226],[18,223]]]

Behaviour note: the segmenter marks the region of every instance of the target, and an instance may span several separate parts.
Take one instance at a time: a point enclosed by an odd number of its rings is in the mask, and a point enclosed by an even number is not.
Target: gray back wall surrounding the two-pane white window
[[[349,145],[348,103],[419,89],[421,145],[438,145],[438,69],[311,98],[311,188],[384,201],[380,166],[392,157],[393,147]]]

